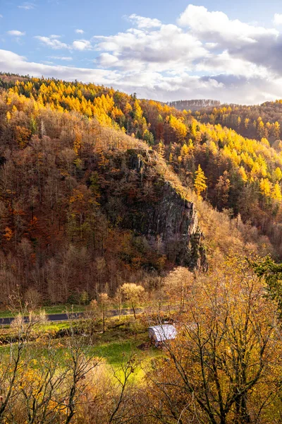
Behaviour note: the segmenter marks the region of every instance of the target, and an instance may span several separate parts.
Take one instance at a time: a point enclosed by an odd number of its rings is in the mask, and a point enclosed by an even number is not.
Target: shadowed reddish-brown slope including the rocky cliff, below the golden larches
[[[46,135],[19,147],[1,106],[1,302],[17,284],[66,302],[175,264],[207,267],[195,206],[147,144],[47,109]]]

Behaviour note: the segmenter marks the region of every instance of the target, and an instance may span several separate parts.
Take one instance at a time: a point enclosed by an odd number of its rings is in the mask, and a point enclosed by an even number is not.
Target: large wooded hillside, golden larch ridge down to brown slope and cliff
[[[231,246],[280,253],[282,157],[266,142],[93,84],[1,86],[1,302],[18,283],[79,301]]]

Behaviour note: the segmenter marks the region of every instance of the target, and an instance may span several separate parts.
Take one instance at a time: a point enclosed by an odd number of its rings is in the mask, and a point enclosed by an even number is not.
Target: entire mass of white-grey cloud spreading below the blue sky
[[[47,57],[51,60],[71,61],[75,50],[98,52],[92,59],[98,69],[38,64],[4,50],[0,69],[92,81],[161,101],[204,97],[247,104],[282,98],[282,33],[277,28],[192,5],[178,25],[135,14],[128,20],[133,28],[91,40],[66,44],[59,35],[36,37],[51,49],[70,51],[70,56]]]

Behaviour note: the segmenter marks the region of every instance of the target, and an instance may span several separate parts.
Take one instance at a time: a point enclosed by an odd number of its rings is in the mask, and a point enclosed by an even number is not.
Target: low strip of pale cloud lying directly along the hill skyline
[[[164,76],[157,71],[112,71],[29,62],[13,52],[0,50],[0,69],[32,76],[63,78],[113,86],[141,98],[160,101],[180,98],[216,98],[223,102],[258,103],[282,98],[282,78],[247,78],[234,75],[192,76],[186,72]]]

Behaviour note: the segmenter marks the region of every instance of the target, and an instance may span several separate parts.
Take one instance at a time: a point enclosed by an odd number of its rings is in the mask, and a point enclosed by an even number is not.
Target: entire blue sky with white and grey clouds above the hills
[[[0,71],[159,101],[282,98],[281,0],[0,0]]]

